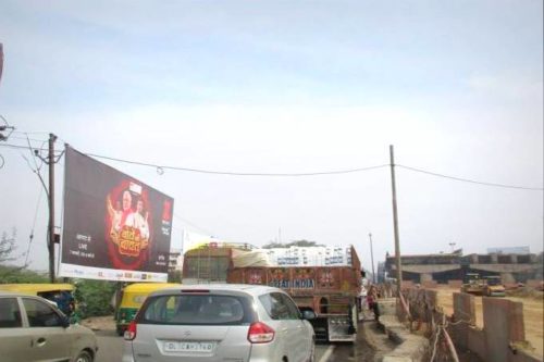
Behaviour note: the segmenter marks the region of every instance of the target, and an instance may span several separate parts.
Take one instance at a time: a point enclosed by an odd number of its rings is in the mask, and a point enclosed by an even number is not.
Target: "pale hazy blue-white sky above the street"
[[[370,270],[369,234],[375,263],[395,252],[393,145],[401,253],[543,249],[541,0],[2,0],[0,42],[15,127],[0,232],[16,229],[32,269],[48,265],[47,202],[13,146],[50,133],[59,151],[227,173],[384,165],[243,176],[96,158],[174,198],[173,248],[184,229],[306,239],[354,245]],[[63,173],[60,159],[61,227]]]

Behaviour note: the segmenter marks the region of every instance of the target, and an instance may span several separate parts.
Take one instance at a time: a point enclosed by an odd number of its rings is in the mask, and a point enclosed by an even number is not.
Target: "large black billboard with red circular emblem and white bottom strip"
[[[66,145],[59,275],[166,282],[174,200]]]

